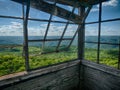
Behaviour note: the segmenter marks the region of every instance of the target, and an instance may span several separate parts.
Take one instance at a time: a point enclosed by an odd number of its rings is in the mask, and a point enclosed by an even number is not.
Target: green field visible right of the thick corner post
[[[114,68],[118,68],[118,56],[119,51],[117,49],[101,49],[100,50],[100,64],[105,64]],[[97,50],[96,49],[85,49],[85,59],[96,62],[97,61]]]

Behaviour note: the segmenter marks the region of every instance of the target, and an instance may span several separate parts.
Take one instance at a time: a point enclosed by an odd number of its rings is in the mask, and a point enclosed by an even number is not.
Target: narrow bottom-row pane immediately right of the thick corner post
[[[85,43],[85,59],[93,62],[97,61],[97,44]]]

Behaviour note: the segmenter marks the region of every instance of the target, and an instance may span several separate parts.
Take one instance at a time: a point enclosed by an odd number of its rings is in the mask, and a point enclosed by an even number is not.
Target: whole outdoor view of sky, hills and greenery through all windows
[[[46,3],[50,2],[46,1]],[[56,6],[69,12],[73,9],[71,6],[58,3]],[[25,10],[26,5],[11,0],[0,0],[0,76],[26,70],[25,48],[23,48]],[[75,8],[74,14],[78,15],[78,8]],[[120,1],[111,0],[109,3],[103,3],[101,26],[99,26],[98,17],[99,5],[94,5],[85,21],[87,24],[83,37],[85,38],[84,59],[95,63],[99,59],[99,64],[118,68],[120,21],[115,18],[120,17]],[[90,22],[94,23],[90,24]],[[30,6],[27,25],[30,69],[78,59],[79,39],[78,34],[75,34],[78,26],[70,20],[51,16],[49,13]],[[75,38],[73,38],[74,35]],[[74,41],[68,47],[72,39]],[[38,41],[29,42],[29,40]]]

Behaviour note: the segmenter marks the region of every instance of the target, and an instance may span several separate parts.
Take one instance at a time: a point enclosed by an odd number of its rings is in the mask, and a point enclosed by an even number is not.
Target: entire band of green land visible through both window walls
[[[41,50],[39,47],[29,48],[30,68],[37,68],[60,62],[77,59],[77,48],[72,46],[70,49],[61,48],[61,52],[41,54],[41,52],[51,52],[53,48]],[[96,49],[85,49],[85,59],[96,62]],[[100,63],[117,68],[118,51],[101,50]],[[22,47],[12,49],[0,49],[0,76],[20,72],[25,70],[25,60],[22,57]]]

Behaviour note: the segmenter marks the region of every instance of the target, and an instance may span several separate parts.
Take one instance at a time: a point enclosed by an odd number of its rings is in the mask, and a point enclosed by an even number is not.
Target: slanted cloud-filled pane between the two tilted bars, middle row
[[[60,38],[63,30],[65,28],[65,24],[61,23],[51,23],[48,34],[47,34],[47,39],[49,38]]]

